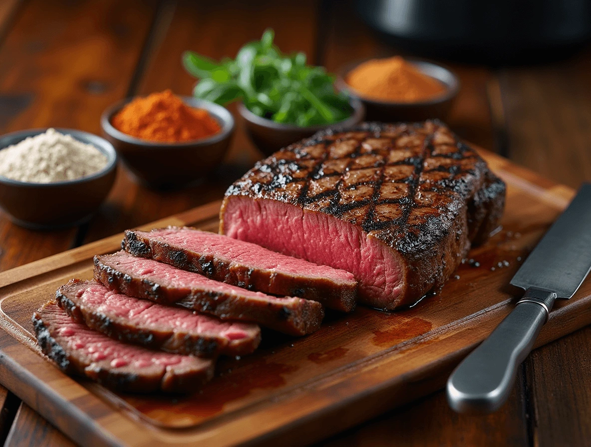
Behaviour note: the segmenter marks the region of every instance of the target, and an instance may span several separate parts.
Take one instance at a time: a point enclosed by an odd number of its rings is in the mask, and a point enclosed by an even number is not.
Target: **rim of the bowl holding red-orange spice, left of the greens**
[[[220,106],[219,104],[216,104],[215,102],[208,101],[206,99],[199,99],[199,98],[196,98],[193,96],[184,96],[184,95],[177,95],[177,96],[179,96],[187,106],[190,106],[193,108],[206,109],[207,112],[211,113],[211,115],[213,115],[213,117],[217,120],[217,122],[220,124],[222,130],[220,130],[219,133],[216,133],[212,136],[209,136],[207,138],[197,139],[197,140],[183,141],[183,142],[173,142],[173,141],[171,141],[171,142],[164,142],[164,141],[157,142],[157,141],[150,141],[150,140],[144,140],[141,138],[137,138],[135,136],[128,135],[127,133],[121,132],[121,130],[116,129],[115,126],[113,126],[111,124],[111,118],[113,118],[113,115],[115,115],[115,113],[119,112],[119,110],[121,110],[122,107],[124,107],[125,105],[132,102],[132,100],[134,100],[135,98],[145,97],[145,95],[144,96],[142,96],[142,95],[129,96],[129,97],[121,99],[118,102],[107,107],[105,109],[105,111],[102,113],[102,115],[100,116],[100,127],[103,129],[103,132],[105,132],[107,135],[109,135],[112,138],[115,138],[119,141],[122,141],[122,142],[128,143],[128,144],[132,144],[132,145],[142,146],[145,148],[153,148],[153,149],[170,148],[171,146],[173,146],[175,148],[190,148],[190,147],[196,147],[196,146],[207,146],[210,144],[215,144],[220,141],[223,141],[226,138],[229,138],[230,135],[232,135],[232,132],[235,128],[235,122],[234,122],[234,118],[232,116],[232,113],[230,113],[230,111],[228,109],[226,109],[226,107]]]

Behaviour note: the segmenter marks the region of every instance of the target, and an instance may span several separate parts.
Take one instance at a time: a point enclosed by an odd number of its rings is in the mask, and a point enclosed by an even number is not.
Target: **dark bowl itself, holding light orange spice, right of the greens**
[[[446,86],[446,92],[441,96],[421,102],[388,102],[365,98],[345,81],[349,72],[365,61],[351,63],[339,70],[336,86],[339,90],[343,90],[363,102],[368,120],[388,122],[423,121],[430,118],[445,119],[453,105],[453,100],[460,91],[459,79],[452,70],[442,65],[414,58],[408,58],[407,61],[427,76],[439,80]]]

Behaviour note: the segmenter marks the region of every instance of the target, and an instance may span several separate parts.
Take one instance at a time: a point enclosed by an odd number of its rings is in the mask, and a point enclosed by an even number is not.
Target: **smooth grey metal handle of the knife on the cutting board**
[[[527,289],[511,314],[470,353],[447,380],[447,401],[459,413],[490,413],[511,393],[517,367],[548,319],[556,293]]]

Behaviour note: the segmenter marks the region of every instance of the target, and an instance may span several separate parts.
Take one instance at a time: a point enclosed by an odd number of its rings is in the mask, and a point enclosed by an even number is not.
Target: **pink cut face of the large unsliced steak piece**
[[[227,199],[223,232],[284,255],[353,273],[359,301],[385,308],[402,287],[397,252],[361,228],[276,200]]]

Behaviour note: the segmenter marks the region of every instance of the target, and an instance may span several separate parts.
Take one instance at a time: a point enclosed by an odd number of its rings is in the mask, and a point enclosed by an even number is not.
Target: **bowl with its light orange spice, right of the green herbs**
[[[439,64],[394,56],[349,64],[337,87],[363,102],[369,120],[418,121],[446,118],[460,82]]]

